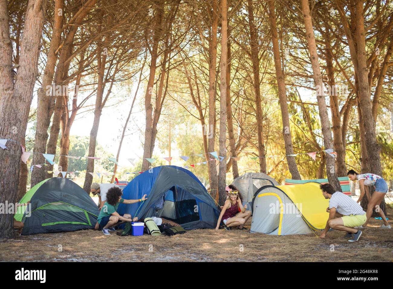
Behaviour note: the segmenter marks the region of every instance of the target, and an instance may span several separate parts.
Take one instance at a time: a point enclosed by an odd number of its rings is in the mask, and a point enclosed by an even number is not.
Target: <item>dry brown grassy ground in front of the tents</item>
[[[393,225],[393,210],[387,217]],[[19,237],[0,243],[0,261],[393,261],[393,229],[372,219],[360,241],[344,232],[270,236],[246,230],[192,230],[172,237],[105,236],[81,230]],[[248,223],[248,227],[250,223]],[[320,234],[317,232],[317,234]],[[62,251],[59,252],[59,245]],[[334,251],[331,251],[334,245]],[[241,248],[243,251],[241,251]]]

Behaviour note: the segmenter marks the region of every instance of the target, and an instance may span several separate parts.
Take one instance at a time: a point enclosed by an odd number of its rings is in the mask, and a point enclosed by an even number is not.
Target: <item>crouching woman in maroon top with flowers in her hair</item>
[[[246,208],[243,208],[239,191],[232,190],[228,186],[225,190],[228,191],[229,196],[222,207],[217,221],[216,231],[219,229],[221,220],[224,223],[224,228],[226,230],[230,230],[230,228],[234,226],[238,226],[239,229],[245,229],[243,225],[246,223],[248,218],[250,218],[251,212],[246,211]],[[239,212],[239,208],[241,209],[241,212]]]

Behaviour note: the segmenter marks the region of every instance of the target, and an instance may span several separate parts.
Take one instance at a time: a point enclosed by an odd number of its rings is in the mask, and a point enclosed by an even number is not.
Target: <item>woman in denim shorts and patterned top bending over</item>
[[[384,225],[380,226],[380,228],[390,229],[391,226],[389,225],[389,223],[387,223],[384,211],[380,210],[379,208],[379,205],[381,204],[382,200],[385,198],[385,195],[387,193],[386,181],[382,177],[375,174],[371,174],[371,173],[358,174],[353,169],[348,171],[347,176],[349,177],[349,179],[353,181],[358,180],[359,182],[360,197],[357,202],[360,203],[364,195],[366,195],[368,199],[367,212],[366,212],[367,219],[362,226],[359,226],[359,228],[364,229],[367,226],[367,223],[371,215],[373,214],[373,208],[378,208],[378,214],[381,216],[382,221],[384,221]],[[371,198],[367,186],[374,186],[375,191]]]

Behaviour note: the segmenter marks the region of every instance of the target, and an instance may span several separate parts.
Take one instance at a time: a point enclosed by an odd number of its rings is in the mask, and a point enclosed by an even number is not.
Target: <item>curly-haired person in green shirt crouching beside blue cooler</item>
[[[110,235],[109,231],[116,232],[114,227],[120,224],[138,221],[138,217],[131,218],[130,214],[119,214],[116,212],[120,203],[134,204],[147,199],[146,195],[143,195],[138,200],[125,200],[121,197],[122,195],[123,193],[119,187],[112,187],[107,191],[107,201],[103,204],[97,218],[97,223],[99,223],[99,227],[105,235]]]

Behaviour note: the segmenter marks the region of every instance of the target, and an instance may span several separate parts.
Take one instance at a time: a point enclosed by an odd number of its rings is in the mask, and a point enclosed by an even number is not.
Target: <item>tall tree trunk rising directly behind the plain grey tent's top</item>
[[[261,107],[261,90],[259,88],[259,48],[258,48],[258,31],[255,27],[254,8],[252,0],[248,0],[248,23],[250,26],[250,45],[251,45],[251,61],[252,72],[254,80],[254,94],[255,94],[255,111],[256,124],[258,136],[258,156],[259,156],[259,171],[267,173],[265,146],[263,141],[263,125],[262,125],[262,107]]]

